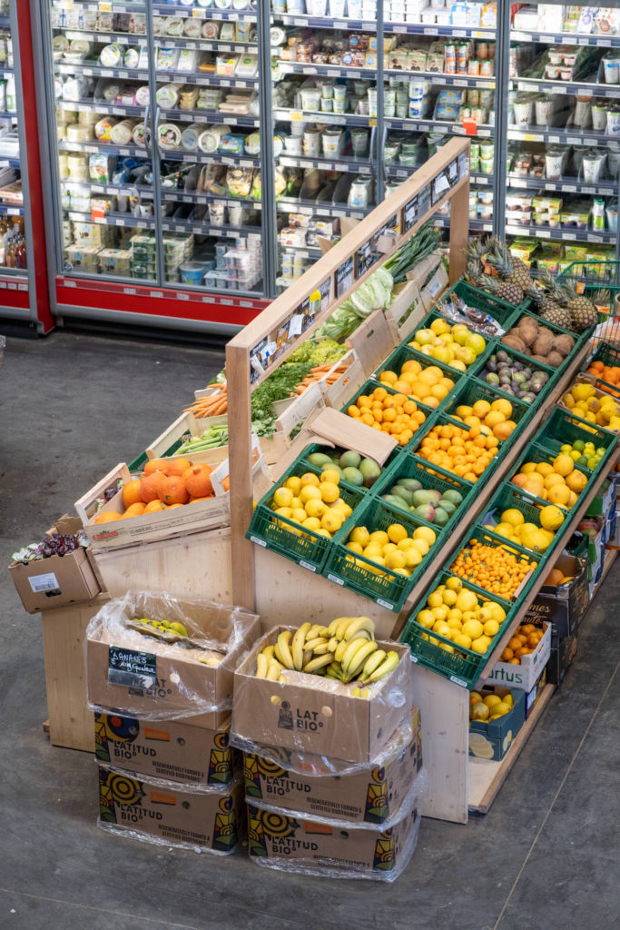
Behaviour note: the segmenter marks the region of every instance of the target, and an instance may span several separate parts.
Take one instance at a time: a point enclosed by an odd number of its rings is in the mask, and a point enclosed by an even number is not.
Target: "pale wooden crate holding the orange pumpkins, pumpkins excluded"
[[[122,516],[125,512],[123,496],[122,492],[118,491],[100,510],[98,509],[98,501],[106,488],[116,485],[119,480],[128,482],[130,479],[129,469],[122,462],[75,502],[75,510],[82,520],[83,529],[94,552],[130,546],[135,542],[174,538],[200,529],[226,526],[231,522],[229,494],[176,507],[173,513],[145,513],[125,520]],[[94,523],[95,516],[104,512],[116,512],[119,518],[109,523]]]

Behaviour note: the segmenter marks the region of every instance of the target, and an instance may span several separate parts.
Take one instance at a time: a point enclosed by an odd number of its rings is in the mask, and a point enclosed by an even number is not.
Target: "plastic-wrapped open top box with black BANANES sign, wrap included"
[[[181,626],[153,628],[140,620]],[[241,607],[128,591],[88,624],[88,707],[142,720],[230,711],[233,673],[257,629],[257,616]]]

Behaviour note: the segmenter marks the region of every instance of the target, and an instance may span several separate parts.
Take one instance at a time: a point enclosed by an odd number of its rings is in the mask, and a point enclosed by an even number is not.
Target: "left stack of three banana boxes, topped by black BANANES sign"
[[[182,622],[189,635],[145,618]],[[86,676],[100,827],[220,854],[243,839],[232,684],[257,633],[257,616],[238,608],[143,592],[110,601],[91,620]]]

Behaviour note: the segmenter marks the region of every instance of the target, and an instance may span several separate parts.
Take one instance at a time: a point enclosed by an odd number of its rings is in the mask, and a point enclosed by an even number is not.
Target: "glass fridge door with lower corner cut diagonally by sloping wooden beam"
[[[281,289],[376,204],[376,2],[363,23],[355,2],[348,19],[346,0],[272,0]]]

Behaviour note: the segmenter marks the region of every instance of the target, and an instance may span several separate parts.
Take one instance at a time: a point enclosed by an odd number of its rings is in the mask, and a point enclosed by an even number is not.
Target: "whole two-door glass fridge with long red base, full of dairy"
[[[43,0],[59,317],[244,326],[270,296],[250,0]]]

